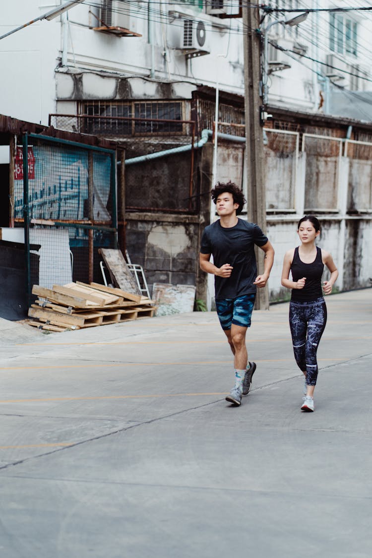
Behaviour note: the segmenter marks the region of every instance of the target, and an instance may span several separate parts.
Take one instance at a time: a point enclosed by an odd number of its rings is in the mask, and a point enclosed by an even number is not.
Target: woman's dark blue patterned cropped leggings
[[[306,383],[315,386],[318,376],[316,352],[327,321],[323,297],[311,302],[289,303],[289,327],[298,368],[306,371]]]

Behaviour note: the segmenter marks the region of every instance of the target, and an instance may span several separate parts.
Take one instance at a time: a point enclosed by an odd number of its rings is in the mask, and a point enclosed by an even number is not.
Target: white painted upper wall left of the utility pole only
[[[60,3],[63,0],[7,2],[0,33],[11,31]],[[175,84],[186,81],[190,97],[195,84],[214,86],[217,73],[221,89],[243,94],[241,20],[219,20],[182,4],[149,4],[147,1],[129,4],[133,27],[142,37],[117,37],[94,31],[90,27],[100,25],[95,17],[99,16],[99,9],[81,4],[67,12],[67,23],[63,16],[38,21],[2,39],[0,112],[46,124],[49,113],[57,110],[56,86],[61,99],[69,100],[74,93],[71,80],[63,75],[67,70],[85,73],[83,85],[89,98],[111,97],[113,80],[110,75],[148,79],[148,83],[138,80],[138,90],[134,92],[138,98],[156,97],[157,83],[165,81]],[[149,33],[149,6],[154,20],[150,26],[152,33]],[[176,17],[170,17],[171,8]],[[183,17],[204,21],[210,55],[187,60],[176,48],[183,34],[181,9]],[[62,54],[67,61],[65,68],[60,67]],[[226,57],[218,56],[221,54]],[[56,69],[58,74],[55,74]]]

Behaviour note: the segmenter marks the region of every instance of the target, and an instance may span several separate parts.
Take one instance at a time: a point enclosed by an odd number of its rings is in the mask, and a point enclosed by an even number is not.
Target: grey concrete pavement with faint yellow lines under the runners
[[[372,290],[326,300],[314,413],[288,304],[253,314],[238,408],[215,313],[0,320],[0,556],[369,558]]]

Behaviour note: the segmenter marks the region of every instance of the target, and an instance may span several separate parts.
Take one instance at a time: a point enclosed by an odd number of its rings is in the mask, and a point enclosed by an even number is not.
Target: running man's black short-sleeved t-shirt
[[[235,227],[221,227],[220,220],[208,225],[201,237],[202,254],[212,254],[216,267],[233,266],[230,277],[215,276],[216,299],[236,299],[256,292],[257,277],[254,245],[264,246],[268,238],[258,225],[238,219]]]

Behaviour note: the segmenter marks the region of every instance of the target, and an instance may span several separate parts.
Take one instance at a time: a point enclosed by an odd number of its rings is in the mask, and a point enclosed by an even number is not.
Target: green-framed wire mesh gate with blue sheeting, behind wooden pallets
[[[116,155],[25,133],[16,152],[14,226],[25,230],[32,285],[102,282],[99,248],[117,247]]]

